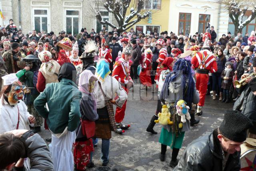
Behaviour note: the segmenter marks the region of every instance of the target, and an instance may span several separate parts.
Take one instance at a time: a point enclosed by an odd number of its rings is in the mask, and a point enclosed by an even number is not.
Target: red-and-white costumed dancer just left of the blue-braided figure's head
[[[159,80],[159,76],[161,74],[158,72],[160,70],[160,66],[161,66],[162,62],[164,61],[164,59],[168,57],[168,54],[167,54],[166,47],[164,46],[164,40],[158,39],[156,41],[156,45],[157,45],[157,48],[160,49],[158,59],[156,60],[156,62],[158,62],[158,66],[156,68],[156,76],[155,76],[155,82],[158,87],[158,80]]]

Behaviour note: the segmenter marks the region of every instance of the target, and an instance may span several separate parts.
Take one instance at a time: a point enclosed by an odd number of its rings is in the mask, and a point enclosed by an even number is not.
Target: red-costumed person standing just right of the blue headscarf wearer
[[[130,46],[126,46],[122,52],[122,58],[120,58],[118,61],[115,62],[113,66],[113,73],[112,77],[116,78],[116,80],[122,85],[123,89],[127,92],[132,87],[133,81],[130,77],[130,67],[131,67],[131,53],[132,48]],[[128,129],[130,125],[124,125],[122,124],[122,121],[124,119],[125,109],[126,109],[126,102],[122,108],[116,107],[116,128],[117,133],[121,133],[122,129]]]

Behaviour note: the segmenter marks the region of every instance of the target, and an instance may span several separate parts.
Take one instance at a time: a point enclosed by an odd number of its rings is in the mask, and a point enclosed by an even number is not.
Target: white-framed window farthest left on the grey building
[[[34,30],[36,32],[48,32],[48,10],[34,9],[33,12]]]

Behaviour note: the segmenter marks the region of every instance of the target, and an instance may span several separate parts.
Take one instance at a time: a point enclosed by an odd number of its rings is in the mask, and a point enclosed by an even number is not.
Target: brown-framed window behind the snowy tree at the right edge
[[[244,20],[246,20],[251,14],[252,14],[252,11],[250,11],[250,10],[246,11],[245,15],[242,18],[242,22],[244,22]],[[246,32],[248,32],[250,34],[250,32],[252,32],[255,29],[256,29],[256,18],[254,18],[249,24],[247,24],[243,28],[241,34],[245,35]],[[228,31],[231,34],[235,33],[235,26],[234,26],[231,18],[228,19]]]

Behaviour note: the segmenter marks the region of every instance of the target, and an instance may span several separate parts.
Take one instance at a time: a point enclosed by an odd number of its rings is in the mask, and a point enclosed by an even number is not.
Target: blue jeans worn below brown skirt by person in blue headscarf
[[[97,139],[98,141],[98,139]],[[96,139],[92,139],[93,145],[96,143]],[[109,147],[110,147],[110,139],[102,139],[101,144],[101,161],[102,163],[108,163],[108,153],[109,153]],[[92,162],[92,155],[93,152],[90,153],[90,162]]]

